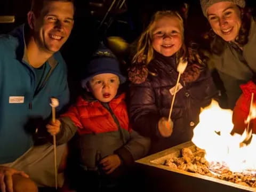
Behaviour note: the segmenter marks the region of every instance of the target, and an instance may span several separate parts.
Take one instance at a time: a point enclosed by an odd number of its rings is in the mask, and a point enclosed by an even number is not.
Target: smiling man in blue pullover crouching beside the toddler
[[[54,164],[53,160],[43,163],[47,161],[45,159],[53,158],[52,145],[48,143],[44,148],[41,146],[35,149],[31,133],[35,132],[36,127],[29,126],[29,122],[51,116],[51,97],[59,99],[60,106],[57,110],[62,109],[69,101],[67,68],[59,50],[71,33],[73,17],[72,0],[33,0],[28,12],[28,22],[8,35],[0,35],[2,192],[37,191],[35,183],[39,186],[48,185],[47,182],[34,178],[32,172],[35,172],[33,166],[40,166],[37,175],[43,177],[45,173],[40,171],[48,169],[44,165]],[[58,151],[58,158],[61,159],[63,149]],[[25,164],[28,159],[31,162]],[[34,165],[35,162],[42,163]],[[54,166],[52,169],[54,175]],[[48,174],[49,170],[46,171]],[[49,175],[45,177],[50,178]]]

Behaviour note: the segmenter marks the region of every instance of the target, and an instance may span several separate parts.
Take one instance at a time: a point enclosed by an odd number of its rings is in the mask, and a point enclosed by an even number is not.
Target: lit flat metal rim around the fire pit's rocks
[[[191,141],[188,141],[188,142],[182,143],[178,146],[174,146],[174,147],[171,147],[169,149],[160,151],[156,154],[149,155],[147,157],[138,159],[135,162],[140,163],[140,164],[144,164],[144,165],[148,165],[148,166],[157,167],[157,168],[167,170],[167,171],[172,171],[172,172],[175,172],[175,173],[185,174],[185,175],[188,175],[188,176],[191,176],[191,177],[196,177],[196,178],[199,178],[199,179],[204,179],[204,180],[208,180],[208,181],[212,181],[212,182],[221,183],[221,184],[224,184],[224,185],[228,185],[228,186],[231,186],[231,187],[235,187],[235,188],[239,188],[239,189],[243,189],[243,190],[247,190],[247,191],[256,191],[256,189],[252,188],[252,187],[242,186],[242,185],[230,182],[230,181],[225,181],[225,180],[209,177],[209,176],[206,176],[206,175],[201,175],[201,174],[198,174],[198,173],[190,173],[190,172],[183,171],[183,170],[172,169],[169,166],[161,164],[167,158],[171,158],[171,157],[174,157],[174,156],[178,157],[180,155],[181,149],[183,149],[185,147],[188,147],[192,150],[194,148],[194,150],[195,150],[194,143],[191,142]]]

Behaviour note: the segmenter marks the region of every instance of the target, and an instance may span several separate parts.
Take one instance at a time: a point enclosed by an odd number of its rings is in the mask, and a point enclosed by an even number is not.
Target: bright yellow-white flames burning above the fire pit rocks
[[[252,116],[251,119],[255,118]],[[221,109],[218,102],[213,100],[210,106],[202,110],[199,119],[192,141],[206,151],[205,159],[211,165],[225,165],[232,172],[255,174],[255,134],[252,134],[249,145],[240,147],[239,143],[245,139],[246,131],[242,135],[230,134],[233,129],[231,110]]]

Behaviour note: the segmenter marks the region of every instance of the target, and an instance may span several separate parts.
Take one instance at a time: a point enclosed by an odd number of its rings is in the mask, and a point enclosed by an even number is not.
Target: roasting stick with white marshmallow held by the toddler
[[[59,100],[51,98],[50,106],[52,107],[52,122],[55,123],[55,108],[59,106]],[[56,136],[53,135],[53,149],[54,149],[54,171],[55,171],[55,188],[57,190],[57,153],[56,153]]]

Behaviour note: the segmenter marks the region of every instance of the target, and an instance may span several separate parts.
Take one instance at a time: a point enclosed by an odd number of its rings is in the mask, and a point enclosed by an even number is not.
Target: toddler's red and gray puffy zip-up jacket
[[[125,94],[109,103],[79,97],[75,105],[61,115],[60,121],[59,143],[67,142],[77,130],[75,143],[86,169],[94,169],[99,154],[101,158],[117,154],[124,164],[131,164],[148,153],[149,139],[130,127]]]

